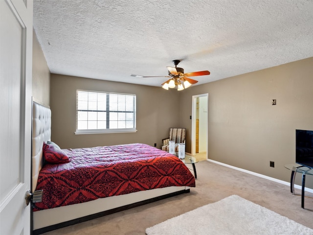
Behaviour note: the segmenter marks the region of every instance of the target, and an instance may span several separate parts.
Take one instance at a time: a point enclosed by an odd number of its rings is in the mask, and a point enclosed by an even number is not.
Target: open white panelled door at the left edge
[[[0,235],[30,234],[31,0],[0,0]]]

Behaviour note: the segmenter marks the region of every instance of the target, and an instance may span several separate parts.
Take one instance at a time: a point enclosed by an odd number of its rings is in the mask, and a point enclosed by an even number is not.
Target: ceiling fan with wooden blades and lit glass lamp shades
[[[207,70],[184,73],[184,69],[177,67],[179,62],[180,60],[173,60],[175,67],[166,67],[168,69],[169,76],[142,76],[142,75],[136,75],[136,74],[131,74],[131,76],[133,77],[170,77],[169,80],[161,84],[162,88],[164,88],[165,90],[168,90],[169,88],[175,88],[177,86],[177,90],[181,91],[181,90],[184,90],[185,88],[190,87],[192,84],[195,84],[198,82],[197,80],[191,79],[189,77],[210,74],[210,71],[207,71]]]

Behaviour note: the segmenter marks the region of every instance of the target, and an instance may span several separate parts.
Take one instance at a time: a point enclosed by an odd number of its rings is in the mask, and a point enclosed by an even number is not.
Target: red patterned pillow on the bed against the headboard
[[[45,161],[48,163],[60,164],[69,162],[69,158],[65,152],[54,144],[44,143],[43,152]]]

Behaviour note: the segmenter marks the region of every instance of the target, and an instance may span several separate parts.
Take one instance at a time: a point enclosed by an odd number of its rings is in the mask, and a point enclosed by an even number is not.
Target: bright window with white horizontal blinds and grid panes
[[[75,134],[135,131],[135,94],[77,90]]]

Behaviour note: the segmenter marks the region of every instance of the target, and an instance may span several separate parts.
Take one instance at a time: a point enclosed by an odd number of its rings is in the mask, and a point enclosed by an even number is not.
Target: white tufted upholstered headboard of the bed
[[[32,116],[32,191],[35,191],[39,171],[43,167],[43,145],[51,138],[51,110],[33,101]]]

